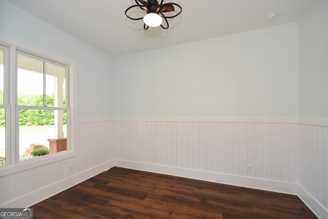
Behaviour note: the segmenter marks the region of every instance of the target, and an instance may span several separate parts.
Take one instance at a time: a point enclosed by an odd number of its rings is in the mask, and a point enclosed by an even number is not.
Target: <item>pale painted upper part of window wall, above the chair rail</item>
[[[0,41],[76,62],[78,117],[112,116],[111,56],[3,0]]]

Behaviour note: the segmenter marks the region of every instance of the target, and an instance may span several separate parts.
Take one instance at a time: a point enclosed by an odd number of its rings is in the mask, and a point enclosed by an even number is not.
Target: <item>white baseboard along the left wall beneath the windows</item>
[[[101,172],[104,172],[105,170],[108,170],[111,167],[114,167],[114,160],[105,162],[94,168],[91,168],[89,170],[80,172],[76,175],[70,176],[70,177],[66,178],[65,180],[61,180],[55,184],[52,184],[52,185],[49,185],[42,189],[39,189],[37,191],[31,192],[22,197],[18,197],[15,200],[12,200],[8,203],[1,205],[0,207],[1,208],[22,208],[22,207],[27,208],[27,207],[30,207],[30,206],[32,206],[36,203],[39,203],[55,194],[58,194],[59,192],[62,192],[68,188],[71,188],[72,186],[75,186],[83,181],[86,181],[86,180],[88,180],[88,178],[91,178]]]

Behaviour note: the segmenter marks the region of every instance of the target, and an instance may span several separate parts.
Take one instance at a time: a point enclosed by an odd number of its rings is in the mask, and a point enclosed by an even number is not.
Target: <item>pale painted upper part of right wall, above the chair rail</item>
[[[299,115],[328,118],[328,1],[316,0],[299,21]]]

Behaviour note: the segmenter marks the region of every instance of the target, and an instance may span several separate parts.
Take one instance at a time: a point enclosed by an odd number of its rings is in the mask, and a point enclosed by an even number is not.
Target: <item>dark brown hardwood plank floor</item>
[[[35,218],[316,218],[296,195],[118,167],[32,208]]]

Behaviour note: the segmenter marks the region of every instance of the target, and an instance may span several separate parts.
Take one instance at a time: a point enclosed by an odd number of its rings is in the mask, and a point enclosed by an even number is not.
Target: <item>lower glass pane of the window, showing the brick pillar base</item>
[[[36,157],[31,154],[35,149],[67,150],[66,110],[19,110],[19,161]]]

